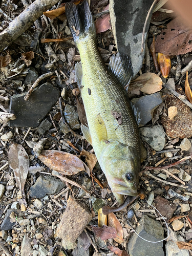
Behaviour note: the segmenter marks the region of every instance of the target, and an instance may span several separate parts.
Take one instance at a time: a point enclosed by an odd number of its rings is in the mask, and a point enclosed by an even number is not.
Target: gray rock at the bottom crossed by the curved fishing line
[[[143,215],[139,223],[136,232],[142,238],[148,241],[160,241],[164,238],[164,230],[160,222]],[[136,233],[133,234],[128,243],[130,256],[164,256],[162,247],[163,242],[148,243],[138,237]]]

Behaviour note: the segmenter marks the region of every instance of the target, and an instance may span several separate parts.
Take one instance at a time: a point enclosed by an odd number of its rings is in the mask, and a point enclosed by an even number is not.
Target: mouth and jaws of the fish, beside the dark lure
[[[111,179],[110,181],[111,181],[110,187],[113,193],[117,193],[125,196],[133,196],[133,197],[137,196],[138,194],[137,189],[133,189],[127,186],[122,178],[113,177],[113,179]]]

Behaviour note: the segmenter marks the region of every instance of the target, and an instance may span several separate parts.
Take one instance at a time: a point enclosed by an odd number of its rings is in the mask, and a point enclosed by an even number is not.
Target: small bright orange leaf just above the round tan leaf
[[[170,72],[170,68],[172,67],[170,57],[167,54],[158,52],[157,62],[159,64],[161,74],[163,75],[164,78],[167,78]]]

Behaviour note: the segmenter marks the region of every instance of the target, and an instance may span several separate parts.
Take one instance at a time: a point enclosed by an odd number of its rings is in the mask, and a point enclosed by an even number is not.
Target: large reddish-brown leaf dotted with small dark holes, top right
[[[167,24],[156,39],[156,51],[167,55],[180,55],[192,50],[192,29],[187,27],[180,18]]]

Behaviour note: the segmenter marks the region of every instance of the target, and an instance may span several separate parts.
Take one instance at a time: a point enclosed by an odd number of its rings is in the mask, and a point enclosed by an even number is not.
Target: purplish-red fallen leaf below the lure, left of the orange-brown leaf
[[[116,238],[117,237],[117,231],[114,227],[108,227],[108,226],[91,226],[93,228],[93,232],[96,234],[97,237],[99,237],[102,240],[107,240],[110,238]]]

